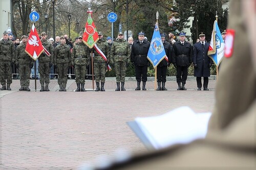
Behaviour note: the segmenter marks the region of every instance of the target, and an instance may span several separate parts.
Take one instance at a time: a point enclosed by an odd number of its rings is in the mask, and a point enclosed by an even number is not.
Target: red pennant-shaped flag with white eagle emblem
[[[29,34],[25,52],[34,60],[36,60],[42,54],[42,52],[44,52],[44,47],[42,46],[34,23]]]

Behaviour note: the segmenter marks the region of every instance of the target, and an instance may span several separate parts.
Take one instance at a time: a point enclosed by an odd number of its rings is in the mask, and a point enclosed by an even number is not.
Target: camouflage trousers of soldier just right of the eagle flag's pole
[[[50,83],[50,62],[39,62],[38,70],[40,74],[40,84],[44,85]]]

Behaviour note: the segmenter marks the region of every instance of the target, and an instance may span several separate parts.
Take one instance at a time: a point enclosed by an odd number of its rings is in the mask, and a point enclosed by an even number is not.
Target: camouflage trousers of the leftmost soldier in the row
[[[11,61],[0,61],[0,82],[1,84],[12,83],[12,64]]]

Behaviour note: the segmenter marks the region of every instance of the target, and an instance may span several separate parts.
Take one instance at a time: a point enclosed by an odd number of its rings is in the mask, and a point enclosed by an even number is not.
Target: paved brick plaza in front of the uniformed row
[[[39,80],[35,91],[34,82],[30,92],[18,91],[19,80],[11,91],[0,91],[0,169],[79,169],[106,156],[145,152],[126,122],[180,106],[209,112],[215,103],[214,78],[209,91],[198,91],[195,78],[188,79],[186,91],[178,91],[172,80],[167,91],[155,91],[154,81],[146,83],[146,91],[135,91],[136,81],[115,91],[115,79],[107,79],[105,92],[93,91],[91,80],[87,92],[75,92],[73,79],[67,92],[58,91],[57,80],[51,80],[49,92],[39,91]]]

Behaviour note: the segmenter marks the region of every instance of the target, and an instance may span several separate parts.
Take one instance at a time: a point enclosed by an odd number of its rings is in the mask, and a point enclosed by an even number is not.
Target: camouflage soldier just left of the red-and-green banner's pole
[[[86,82],[87,65],[90,62],[89,55],[89,47],[82,42],[82,36],[79,36],[72,53],[72,65],[75,65],[76,74],[76,91],[86,91],[84,83]]]

